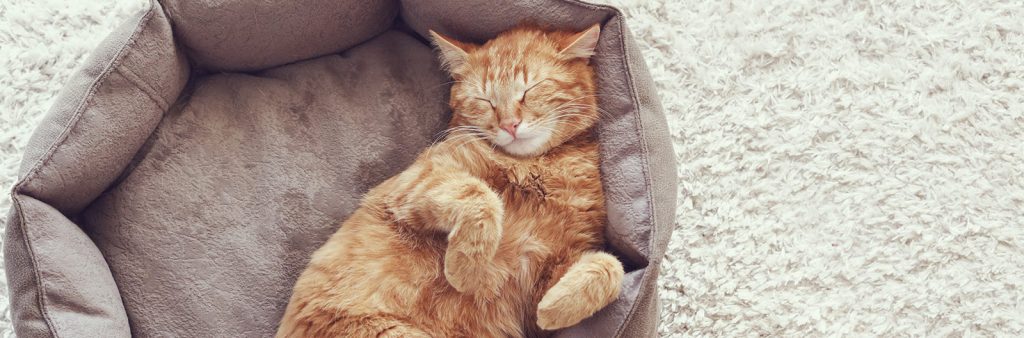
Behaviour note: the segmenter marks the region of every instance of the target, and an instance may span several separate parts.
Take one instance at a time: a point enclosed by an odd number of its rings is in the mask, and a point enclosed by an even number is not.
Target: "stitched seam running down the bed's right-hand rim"
[[[626,68],[626,75],[627,75],[626,83],[630,87],[630,91],[632,93],[630,98],[633,100],[633,105],[636,108],[636,112],[633,114],[633,117],[637,121],[637,135],[640,135],[640,147],[642,150],[643,162],[644,162],[644,165],[642,166],[644,181],[647,183],[647,186],[650,187],[653,185],[653,182],[651,181],[650,177],[650,152],[647,145],[647,138],[643,136],[644,135],[643,119],[640,118],[640,102],[637,100],[636,84],[633,83],[633,70],[630,68],[630,62],[629,62],[630,56],[626,52],[626,15],[623,14],[622,10],[612,6],[595,5],[580,0],[565,0],[565,1],[574,3],[585,8],[611,10],[615,14],[615,16],[618,16],[620,19],[618,33],[620,36],[622,37],[622,39],[620,39],[618,42],[618,51],[623,53],[623,66]],[[653,253],[652,243],[654,242],[654,239],[657,238],[657,216],[655,213],[656,206],[652,194],[653,193],[651,193],[651,189],[647,188],[647,199],[650,201],[649,209],[650,209],[650,223],[651,223],[650,238],[647,239],[647,247],[650,248],[647,252],[648,255]],[[657,259],[656,261],[653,259],[648,259],[647,264],[648,267],[650,267],[650,264],[652,263],[660,264],[660,262],[662,262],[660,259]],[[646,285],[647,280],[652,274],[654,273],[650,273],[649,269],[644,271],[643,277],[640,278],[640,288],[643,288],[643,286]],[[639,291],[637,292],[637,296],[639,297]],[[639,301],[633,302],[633,306],[631,306],[629,312],[626,313],[626,320],[623,321],[623,324],[620,325],[618,330],[615,331],[614,335],[615,337],[622,337],[625,334],[624,331],[626,330],[626,324],[629,323],[634,315],[636,315],[636,310],[637,306],[639,306],[639,303],[640,303]]]

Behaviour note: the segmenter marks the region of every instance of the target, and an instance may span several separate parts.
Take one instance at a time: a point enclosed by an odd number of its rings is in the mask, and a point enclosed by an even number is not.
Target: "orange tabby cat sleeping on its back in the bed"
[[[278,337],[538,337],[618,296],[589,65],[600,28],[431,32],[447,137],[374,187],[299,277]]]

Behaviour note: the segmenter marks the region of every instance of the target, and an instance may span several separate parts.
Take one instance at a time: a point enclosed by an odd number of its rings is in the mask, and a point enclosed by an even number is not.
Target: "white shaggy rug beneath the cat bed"
[[[679,163],[662,335],[1024,335],[1024,3],[606,2]],[[0,1],[3,189],[143,5]]]

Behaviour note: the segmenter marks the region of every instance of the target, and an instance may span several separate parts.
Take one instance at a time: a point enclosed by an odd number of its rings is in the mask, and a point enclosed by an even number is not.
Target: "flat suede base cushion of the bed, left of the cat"
[[[271,335],[311,251],[444,127],[432,55],[392,31],[340,55],[197,80],[82,217],[133,333]]]

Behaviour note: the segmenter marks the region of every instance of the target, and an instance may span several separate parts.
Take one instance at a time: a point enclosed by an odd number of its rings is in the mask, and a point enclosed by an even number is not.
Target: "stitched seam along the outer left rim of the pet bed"
[[[125,50],[127,50],[127,46],[135,43],[135,40],[138,38],[139,33],[142,32],[142,29],[145,27],[145,25],[150,22],[151,18],[153,18],[153,13],[154,13],[153,6],[151,5],[150,9],[146,10],[145,14],[143,14],[142,17],[139,18],[138,24],[135,26],[135,30],[132,32],[131,36],[129,36],[128,40],[121,45],[121,49],[118,50],[118,52],[114,55],[114,58],[111,60],[111,62],[108,64],[103,68],[103,70],[99,73],[99,76],[97,76],[96,79],[93,80],[91,84],[89,84],[89,89],[86,91],[86,95],[84,96],[82,101],[78,104],[78,107],[75,108],[75,113],[72,116],[71,120],[69,120],[68,123],[65,125],[63,130],[61,130],[60,134],[57,135],[58,140],[53,142],[49,146],[49,149],[47,149],[46,152],[43,153],[43,156],[40,157],[39,160],[37,160],[36,163],[31,167],[32,169],[29,170],[29,173],[26,174],[25,177],[22,178],[14,185],[13,189],[11,189],[11,201],[17,206],[18,218],[22,220],[22,224],[19,225],[22,226],[22,235],[24,236],[23,240],[26,244],[26,250],[29,253],[29,260],[32,262],[33,273],[36,277],[36,288],[38,288],[39,290],[39,292],[37,293],[37,301],[39,302],[39,313],[40,315],[43,316],[43,321],[46,323],[47,330],[49,330],[50,334],[53,335],[53,337],[60,337],[60,335],[57,333],[56,326],[53,325],[53,320],[50,318],[49,311],[47,309],[48,306],[46,305],[46,289],[43,288],[42,272],[39,269],[38,259],[36,258],[36,251],[33,249],[32,241],[29,239],[28,236],[29,231],[28,231],[28,224],[26,223],[25,220],[25,211],[24,208],[22,207],[22,203],[17,198],[17,196],[20,195],[22,188],[26,184],[28,184],[29,181],[31,181],[36,175],[38,175],[40,170],[46,165],[46,163],[48,163],[49,160],[53,158],[53,154],[56,153],[56,151],[60,147],[60,145],[63,145],[63,142],[68,140],[68,137],[71,134],[71,130],[74,129],[76,125],[78,125],[78,122],[81,121],[82,115],[84,114],[85,110],[88,108],[89,103],[91,103],[92,95],[96,93],[96,88],[98,87],[98,84],[102,80],[106,79],[111,71],[118,66],[118,64],[121,61],[122,57],[125,54]]]

